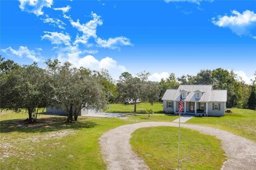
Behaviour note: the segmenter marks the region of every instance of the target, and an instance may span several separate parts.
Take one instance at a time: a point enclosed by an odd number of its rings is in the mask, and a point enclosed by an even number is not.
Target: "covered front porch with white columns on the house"
[[[174,114],[178,114],[179,101],[174,101]],[[181,115],[208,115],[208,102],[184,101]]]

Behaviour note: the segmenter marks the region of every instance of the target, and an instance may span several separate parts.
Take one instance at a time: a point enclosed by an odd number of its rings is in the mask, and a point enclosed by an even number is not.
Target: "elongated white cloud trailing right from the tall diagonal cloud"
[[[119,49],[118,45],[132,45],[129,38],[126,37],[116,37],[109,38],[108,40],[102,40],[97,38],[96,42],[99,47],[110,48],[110,49]]]

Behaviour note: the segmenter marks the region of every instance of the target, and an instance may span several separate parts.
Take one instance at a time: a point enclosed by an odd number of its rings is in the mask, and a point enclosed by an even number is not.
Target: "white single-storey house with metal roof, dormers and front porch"
[[[180,95],[184,107],[181,115],[225,115],[227,91],[212,90],[212,85],[180,85],[176,90],[166,90],[162,97],[165,113],[178,113]]]

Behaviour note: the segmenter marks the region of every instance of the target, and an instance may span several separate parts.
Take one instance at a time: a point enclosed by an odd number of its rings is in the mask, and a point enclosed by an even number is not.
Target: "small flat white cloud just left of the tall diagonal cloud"
[[[42,36],[43,39],[49,40],[52,44],[57,44],[60,45],[64,43],[65,45],[70,45],[71,38],[70,36],[66,33],[58,33],[58,32],[47,32],[44,31],[44,36]]]

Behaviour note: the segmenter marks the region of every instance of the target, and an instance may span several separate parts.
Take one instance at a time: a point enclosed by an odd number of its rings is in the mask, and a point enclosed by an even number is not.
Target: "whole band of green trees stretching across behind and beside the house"
[[[126,98],[140,99],[153,105],[160,101],[166,89],[179,85],[213,85],[213,89],[228,91],[227,107],[255,109],[256,79],[247,85],[233,71],[225,69],[201,70],[196,76],[174,73],[160,82],[149,81],[150,73],[141,72],[135,77],[128,72],[115,81],[108,70],[93,71],[74,67],[58,60],[45,62],[46,68],[18,65],[0,55],[0,108],[20,111],[25,109],[29,122],[35,122],[38,108],[65,109],[67,122],[77,121],[82,108],[102,110],[109,103],[122,103]],[[256,75],[256,73],[255,73]],[[136,103],[134,105],[136,112]]]

